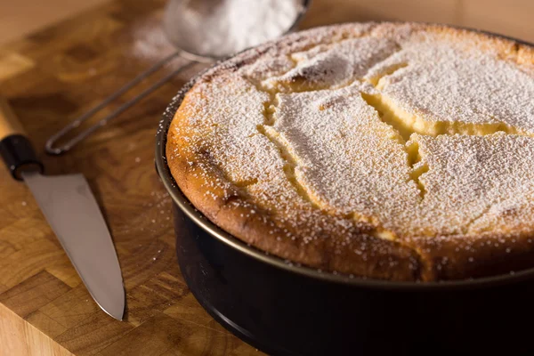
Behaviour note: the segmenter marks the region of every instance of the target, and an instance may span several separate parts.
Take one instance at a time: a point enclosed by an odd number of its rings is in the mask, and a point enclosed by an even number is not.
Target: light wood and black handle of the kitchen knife
[[[19,120],[7,101],[0,97],[0,156],[13,178],[22,180],[22,171],[44,171],[43,163],[37,158]]]

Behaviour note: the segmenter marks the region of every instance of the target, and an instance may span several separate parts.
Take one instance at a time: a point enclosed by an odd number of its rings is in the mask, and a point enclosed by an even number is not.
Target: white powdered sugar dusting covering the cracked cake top
[[[530,69],[499,60],[473,38],[397,29],[378,26],[362,34],[354,25],[330,43],[324,40],[330,29],[317,29],[301,35],[300,48],[265,53],[238,70],[230,62],[230,70],[209,71],[209,81],[189,94],[187,125],[172,127],[182,147],[167,156],[202,148],[224,175],[206,183],[206,196],[217,199],[215,191],[230,191],[227,182],[233,182],[272,215],[268,233],[294,241],[303,255],[325,237],[333,239],[334,254],[365,262],[387,255],[389,245],[380,239],[409,243],[488,231],[506,238],[532,231],[534,103],[525,100],[534,97]],[[399,63],[402,68],[392,70]],[[427,121],[498,122],[524,134],[413,134],[405,142],[361,93],[384,95]],[[416,181],[412,171],[423,165]],[[365,226],[373,227],[368,235]],[[377,233],[381,229],[391,235]],[[466,241],[465,251],[474,253]],[[444,259],[436,269],[449,263]]]

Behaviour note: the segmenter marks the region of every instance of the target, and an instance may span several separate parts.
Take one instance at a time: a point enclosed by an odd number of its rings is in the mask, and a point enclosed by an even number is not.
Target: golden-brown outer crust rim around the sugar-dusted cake
[[[512,40],[441,25],[366,24],[344,25],[326,31],[325,36],[287,36],[278,44],[267,44],[224,62],[199,78],[176,112],[166,143],[168,165],[178,186],[200,212],[233,236],[269,254],[302,263],[322,271],[335,271],[373,279],[440,280],[466,279],[518,271],[534,266],[532,230],[521,234],[483,233],[480,236],[447,236],[436,239],[383,239],[377,237],[376,223],[358,223],[351,216],[330,214],[304,203],[287,203],[287,209],[302,209],[319,223],[313,229],[320,239],[306,240],[310,226],[285,220],[283,209],[258,204],[247,193],[255,182],[236,182],[226,176],[211,158],[212,148],[205,146],[190,128],[190,117],[199,115],[195,88],[222,74],[254,65],[265,53],[293,53],[330,41],[330,37],[358,36],[358,31],[387,32],[405,26],[407,31],[436,31],[450,36],[473,36],[488,44],[503,59],[520,64],[534,64],[534,50]],[[482,40],[481,40],[482,39]],[[271,64],[265,64],[267,66]],[[276,66],[284,67],[284,63]],[[274,66],[274,65],[273,65]],[[272,69],[262,69],[271,75]],[[265,74],[266,73],[266,74]],[[199,94],[200,93],[200,94]],[[214,184],[214,182],[217,182]],[[206,194],[209,191],[209,194]],[[305,219],[304,219],[305,220]],[[336,227],[338,226],[338,227]],[[513,231],[512,231],[513,232]],[[350,233],[351,238],[347,239]],[[287,239],[291,236],[292,239]]]

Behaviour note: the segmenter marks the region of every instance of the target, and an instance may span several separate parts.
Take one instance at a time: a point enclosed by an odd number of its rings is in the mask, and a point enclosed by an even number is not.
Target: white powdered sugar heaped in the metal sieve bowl
[[[302,9],[302,0],[174,0],[164,27],[190,53],[225,57],[282,36]]]

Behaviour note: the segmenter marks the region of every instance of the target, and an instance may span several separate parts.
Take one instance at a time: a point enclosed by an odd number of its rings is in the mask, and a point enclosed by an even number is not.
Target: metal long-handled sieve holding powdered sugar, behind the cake
[[[70,150],[93,134],[99,127],[131,108],[150,93],[166,84],[184,69],[195,62],[211,62],[239,53],[249,47],[285,35],[296,28],[312,0],[170,0],[166,5],[163,28],[167,39],[174,44],[176,51],[155,63],[138,77],[109,95],[104,101],[85,114],[74,119],[69,125],[53,134],[46,142],[46,152],[59,155]],[[85,129],[64,144],[56,142],[66,134],[93,117],[115,101],[118,97],[139,85],[145,78],[162,69],[178,57],[190,61],[174,69],[153,85],[126,101],[95,125]]]

